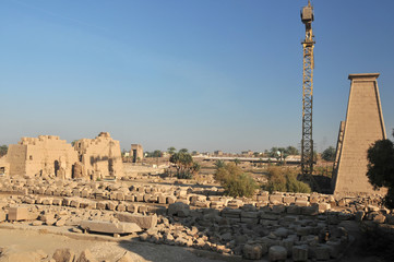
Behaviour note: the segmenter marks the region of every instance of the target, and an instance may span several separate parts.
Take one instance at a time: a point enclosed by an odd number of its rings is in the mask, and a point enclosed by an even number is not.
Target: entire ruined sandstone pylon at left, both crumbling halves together
[[[106,132],[96,139],[79,140],[74,147],[56,135],[22,138],[9,146],[0,169],[9,176],[86,179],[123,176],[119,141]]]

